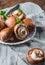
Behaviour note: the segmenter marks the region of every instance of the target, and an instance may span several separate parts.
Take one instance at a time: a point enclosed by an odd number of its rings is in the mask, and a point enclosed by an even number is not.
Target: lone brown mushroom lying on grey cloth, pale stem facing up
[[[26,57],[31,64],[41,63],[44,61],[44,51],[40,48],[33,48],[28,51]]]

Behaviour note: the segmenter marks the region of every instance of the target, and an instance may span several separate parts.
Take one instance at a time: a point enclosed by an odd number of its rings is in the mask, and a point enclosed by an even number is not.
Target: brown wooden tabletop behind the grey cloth
[[[13,6],[20,2],[34,2],[45,10],[45,0],[0,0],[0,9]]]

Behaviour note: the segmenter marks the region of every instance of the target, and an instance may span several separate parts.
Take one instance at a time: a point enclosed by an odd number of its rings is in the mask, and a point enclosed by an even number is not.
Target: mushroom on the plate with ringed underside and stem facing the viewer
[[[17,24],[15,27],[14,27],[14,33],[16,35],[16,38],[18,40],[24,40],[27,35],[28,35],[28,29],[27,27],[25,26],[25,24]]]

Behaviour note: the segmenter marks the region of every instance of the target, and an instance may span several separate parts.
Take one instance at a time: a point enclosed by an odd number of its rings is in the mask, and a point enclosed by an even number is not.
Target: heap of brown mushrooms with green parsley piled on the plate
[[[7,19],[0,15],[0,40],[8,40],[13,33],[18,40],[24,40],[34,28],[35,23],[21,9],[10,13]]]

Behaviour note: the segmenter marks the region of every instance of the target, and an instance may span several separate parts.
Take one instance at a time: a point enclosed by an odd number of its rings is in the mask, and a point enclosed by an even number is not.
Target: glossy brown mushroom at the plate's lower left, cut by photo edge
[[[12,33],[12,29],[11,28],[5,28],[3,30],[1,30],[0,32],[0,40],[7,40],[9,38],[9,36]]]

